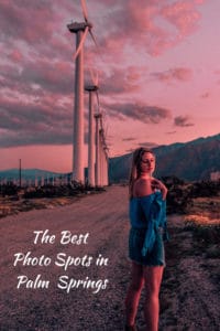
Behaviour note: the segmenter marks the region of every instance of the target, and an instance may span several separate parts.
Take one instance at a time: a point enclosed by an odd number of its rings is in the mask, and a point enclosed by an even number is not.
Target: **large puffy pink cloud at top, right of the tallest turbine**
[[[124,45],[136,51],[144,47],[146,53],[160,55],[196,31],[199,4],[196,1],[120,1],[106,18],[109,29],[105,38],[100,36],[102,46],[108,54],[114,50],[117,56],[123,53]]]

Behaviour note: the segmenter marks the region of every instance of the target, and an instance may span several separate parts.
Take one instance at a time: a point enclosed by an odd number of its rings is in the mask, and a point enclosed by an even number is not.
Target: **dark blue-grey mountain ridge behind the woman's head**
[[[189,142],[177,142],[153,148],[156,154],[156,177],[175,175],[187,181],[210,179],[210,173],[220,171],[220,135],[198,138]],[[111,158],[110,182],[127,181],[132,153]]]

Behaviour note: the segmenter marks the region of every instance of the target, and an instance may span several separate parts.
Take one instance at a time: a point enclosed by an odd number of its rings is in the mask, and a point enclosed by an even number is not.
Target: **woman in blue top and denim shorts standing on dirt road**
[[[166,233],[166,186],[152,174],[155,156],[145,148],[133,153],[130,175],[129,256],[132,280],[125,298],[125,330],[134,322],[142,288],[145,288],[144,317],[147,331],[158,330],[158,292],[165,266],[163,238]]]

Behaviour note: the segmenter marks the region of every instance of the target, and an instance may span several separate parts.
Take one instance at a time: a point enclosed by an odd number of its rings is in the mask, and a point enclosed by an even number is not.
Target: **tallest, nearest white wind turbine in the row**
[[[73,180],[85,182],[84,175],[84,43],[88,32],[94,42],[92,24],[88,21],[85,0],[81,0],[85,22],[67,24],[69,32],[76,33],[75,66],[75,105],[74,105],[74,135],[73,135]],[[96,43],[97,44],[97,43]]]

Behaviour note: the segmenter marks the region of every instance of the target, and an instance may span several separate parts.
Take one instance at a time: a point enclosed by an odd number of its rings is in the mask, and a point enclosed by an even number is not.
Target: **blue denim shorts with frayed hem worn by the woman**
[[[156,232],[156,239],[152,252],[142,256],[141,250],[144,244],[145,233],[145,228],[132,227],[130,229],[129,257],[143,266],[165,266],[163,228],[158,228]]]

